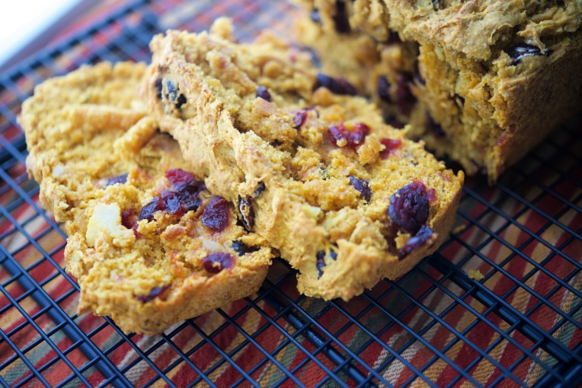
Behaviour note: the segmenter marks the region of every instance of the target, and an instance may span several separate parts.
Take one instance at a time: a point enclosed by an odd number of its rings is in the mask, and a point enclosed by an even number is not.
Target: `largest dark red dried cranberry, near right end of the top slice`
[[[416,235],[427,221],[428,207],[426,186],[421,181],[414,181],[392,195],[388,215],[400,231]]]

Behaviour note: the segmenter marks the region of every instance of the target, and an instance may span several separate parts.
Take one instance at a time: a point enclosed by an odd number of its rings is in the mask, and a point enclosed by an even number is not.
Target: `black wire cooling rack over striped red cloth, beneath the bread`
[[[38,205],[16,117],[34,85],[83,63],[150,58],[151,36],[233,17],[240,39],[284,2],[137,1],[0,76],[0,385],[574,387],[582,382],[582,120],[495,186],[467,179],[456,228],[398,282],[343,301],[297,294],[275,261],[258,294],[159,336],[75,314],[64,233]]]

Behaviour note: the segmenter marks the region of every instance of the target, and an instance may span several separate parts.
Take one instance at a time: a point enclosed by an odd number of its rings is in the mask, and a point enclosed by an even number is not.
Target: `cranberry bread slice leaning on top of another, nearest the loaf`
[[[231,28],[154,37],[149,110],[208,189],[299,271],[300,292],[348,300],[434,252],[463,173],[317,77],[306,53],[268,34],[236,44]]]

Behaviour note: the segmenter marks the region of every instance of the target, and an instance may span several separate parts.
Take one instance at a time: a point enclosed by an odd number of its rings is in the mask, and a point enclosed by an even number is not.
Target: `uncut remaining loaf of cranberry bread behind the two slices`
[[[468,174],[494,182],[582,107],[579,0],[296,2],[328,73],[365,74],[360,92]]]

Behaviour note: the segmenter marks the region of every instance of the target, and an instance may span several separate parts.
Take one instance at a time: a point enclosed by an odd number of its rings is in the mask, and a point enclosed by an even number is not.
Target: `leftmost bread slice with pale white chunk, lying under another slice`
[[[237,225],[137,100],[144,64],[100,63],[38,86],[24,102],[29,174],[68,231],[79,314],[158,333],[254,293],[271,249]]]

